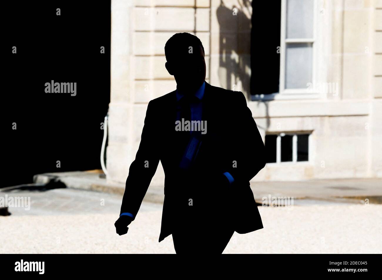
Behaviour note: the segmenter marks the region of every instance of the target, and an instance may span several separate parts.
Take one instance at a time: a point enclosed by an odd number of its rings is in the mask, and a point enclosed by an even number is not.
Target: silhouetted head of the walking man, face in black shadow
[[[185,93],[196,91],[206,79],[204,48],[196,36],[176,33],[165,45],[166,69],[173,75],[177,88]]]

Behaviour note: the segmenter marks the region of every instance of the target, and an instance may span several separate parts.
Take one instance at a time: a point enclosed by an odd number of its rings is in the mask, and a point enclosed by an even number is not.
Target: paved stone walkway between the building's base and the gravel
[[[124,184],[108,184],[96,172],[75,171],[45,173],[35,176],[36,182],[46,183],[58,178],[66,186],[75,189],[95,190],[123,194]],[[324,200],[353,198],[358,202],[368,199],[370,203],[382,203],[382,179],[325,179],[297,182],[251,182],[254,197],[261,202],[263,197],[294,197]],[[147,202],[163,203],[163,186],[151,185],[144,198]],[[342,199],[338,199],[342,198]],[[355,201],[354,201],[355,202]]]

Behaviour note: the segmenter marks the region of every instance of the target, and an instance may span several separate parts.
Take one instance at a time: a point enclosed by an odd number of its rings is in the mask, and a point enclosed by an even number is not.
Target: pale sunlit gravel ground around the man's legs
[[[175,253],[171,235],[158,242],[162,206],[144,204],[122,236],[115,213],[0,216],[0,253]],[[382,253],[382,205],[259,211],[264,229],[235,232],[224,253]]]

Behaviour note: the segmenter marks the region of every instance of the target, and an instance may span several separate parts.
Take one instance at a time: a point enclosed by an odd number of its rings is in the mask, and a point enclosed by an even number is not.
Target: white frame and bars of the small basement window
[[[281,134],[292,135],[292,161],[291,162],[282,162],[281,161]],[[297,161],[297,135],[300,134],[309,134],[308,136],[308,160],[301,162]],[[312,162],[312,131],[302,132],[281,132],[278,134],[268,134],[268,135],[277,135],[276,138],[276,162],[267,162],[267,165],[280,165],[280,164],[306,164]]]

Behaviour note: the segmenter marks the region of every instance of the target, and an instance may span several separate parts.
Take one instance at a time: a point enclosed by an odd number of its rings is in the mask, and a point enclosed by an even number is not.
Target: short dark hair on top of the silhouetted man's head
[[[204,47],[195,35],[189,34],[187,32],[176,33],[170,39],[167,40],[165,45],[165,56],[166,60],[173,61],[176,59],[182,52],[188,52],[189,47],[192,46],[193,49],[201,46],[204,53]]]

